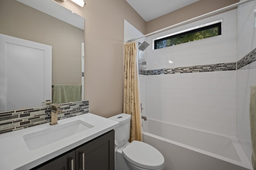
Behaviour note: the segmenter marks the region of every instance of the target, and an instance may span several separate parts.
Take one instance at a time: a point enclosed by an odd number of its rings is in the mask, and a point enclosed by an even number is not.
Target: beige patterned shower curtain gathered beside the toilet
[[[130,142],[142,141],[136,43],[124,44],[124,113],[132,117]]]

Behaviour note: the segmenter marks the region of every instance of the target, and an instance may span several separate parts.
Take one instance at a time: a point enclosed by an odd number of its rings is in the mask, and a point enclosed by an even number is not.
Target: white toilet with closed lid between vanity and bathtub
[[[115,128],[116,170],[163,170],[164,156],[153,146],[144,142],[128,142],[131,115],[122,113],[108,119],[120,123]]]

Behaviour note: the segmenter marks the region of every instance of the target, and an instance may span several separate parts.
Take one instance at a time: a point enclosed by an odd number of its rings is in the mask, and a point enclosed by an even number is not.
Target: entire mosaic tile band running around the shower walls
[[[244,56],[237,62],[233,63],[220,63],[210,65],[196,65],[190,67],[175,67],[167,69],[154,69],[145,70],[141,69],[139,73],[141,75],[159,75],[159,74],[175,74],[175,73],[197,73],[197,72],[212,72],[212,71],[229,71],[237,70],[242,67],[256,61],[256,48]]]

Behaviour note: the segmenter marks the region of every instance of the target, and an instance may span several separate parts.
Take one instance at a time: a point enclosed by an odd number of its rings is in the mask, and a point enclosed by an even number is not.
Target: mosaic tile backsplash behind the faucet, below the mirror
[[[89,113],[89,101],[60,104],[58,120]],[[0,134],[50,123],[50,106],[0,112]]]

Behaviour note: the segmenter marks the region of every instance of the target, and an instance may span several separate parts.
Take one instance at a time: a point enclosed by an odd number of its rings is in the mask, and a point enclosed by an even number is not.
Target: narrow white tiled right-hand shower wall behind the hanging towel
[[[256,28],[254,28],[255,9],[255,1],[248,2],[237,8],[238,68],[236,129],[238,140],[242,144],[242,147],[249,158],[252,154],[249,119],[250,86],[256,85]]]

